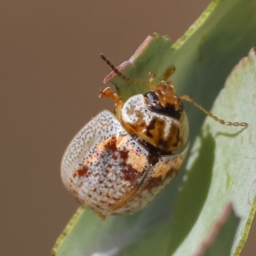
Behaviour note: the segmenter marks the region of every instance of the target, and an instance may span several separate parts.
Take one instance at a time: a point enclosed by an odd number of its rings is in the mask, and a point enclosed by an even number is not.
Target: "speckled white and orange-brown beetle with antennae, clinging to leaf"
[[[154,84],[154,73],[149,73],[148,83],[128,79],[101,56],[121,79],[143,83],[149,90],[126,102],[109,87],[100,90],[101,98],[115,103],[115,115],[107,110],[98,113],[73,138],[62,158],[64,185],[100,216],[142,210],[177,175],[189,148],[182,100],[223,125],[247,126],[218,119],[189,96],[178,97],[171,81]]]

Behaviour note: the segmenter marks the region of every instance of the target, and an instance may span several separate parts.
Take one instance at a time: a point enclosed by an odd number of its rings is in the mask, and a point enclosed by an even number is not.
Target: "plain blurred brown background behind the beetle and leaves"
[[[84,123],[113,109],[97,96],[109,71],[99,53],[119,64],[151,32],[175,42],[209,2],[0,2],[0,255],[49,255],[78,207],[60,162]],[[242,255],[255,254],[252,232]]]

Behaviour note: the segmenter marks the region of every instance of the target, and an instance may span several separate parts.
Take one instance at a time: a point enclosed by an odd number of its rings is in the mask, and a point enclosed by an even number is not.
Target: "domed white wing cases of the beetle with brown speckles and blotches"
[[[186,151],[160,157],[151,167],[148,151],[112,113],[102,111],[84,125],[67,147],[61,161],[61,177],[66,188],[96,212],[137,212],[171,181]],[[132,191],[136,193],[120,204]]]

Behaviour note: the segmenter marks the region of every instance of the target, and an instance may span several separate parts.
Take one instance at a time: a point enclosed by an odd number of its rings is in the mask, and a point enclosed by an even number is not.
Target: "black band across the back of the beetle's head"
[[[180,102],[179,108],[175,110],[174,106],[170,104],[166,104],[166,107],[163,107],[158,101],[158,96],[153,91],[147,92],[144,97],[148,99],[146,105],[150,111],[165,114],[175,119],[181,118],[183,113],[183,102]]]

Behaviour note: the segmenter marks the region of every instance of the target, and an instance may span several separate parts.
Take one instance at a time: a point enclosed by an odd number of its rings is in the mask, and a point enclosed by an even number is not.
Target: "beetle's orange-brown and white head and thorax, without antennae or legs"
[[[188,120],[171,82],[162,81],[154,91],[132,96],[120,111],[125,130],[154,148],[171,152],[188,137]]]

